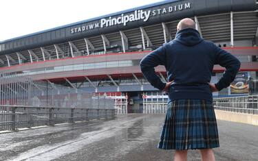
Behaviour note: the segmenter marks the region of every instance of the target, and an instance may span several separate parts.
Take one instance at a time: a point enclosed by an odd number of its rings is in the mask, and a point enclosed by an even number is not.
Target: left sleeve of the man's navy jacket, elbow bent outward
[[[158,49],[155,49],[154,51],[146,55],[140,61],[140,69],[144,77],[146,77],[146,79],[152,86],[158,88],[159,90],[163,90],[166,86],[166,83],[162,82],[160,80],[160,77],[156,75],[154,67],[158,65],[165,65],[165,60],[166,53],[164,45],[162,45]]]

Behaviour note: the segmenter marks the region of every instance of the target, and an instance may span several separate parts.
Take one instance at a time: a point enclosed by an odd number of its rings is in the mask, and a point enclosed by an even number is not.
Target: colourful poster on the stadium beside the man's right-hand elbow
[[[248,73],[237,73],[235,80],[230,84],[230,93],[232,94],[248,94]]]

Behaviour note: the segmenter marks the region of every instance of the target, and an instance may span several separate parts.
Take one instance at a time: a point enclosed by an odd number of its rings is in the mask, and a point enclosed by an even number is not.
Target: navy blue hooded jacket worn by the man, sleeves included
[[[163,90],[166,83],[155,74],[154,67],[164,65],[169,82],[169,101],[175,99],[206,99],[213,101],[208,82],[211,81],[213,66],[219,64],[226,71],[215,84],[218,90],[226,88],[235,79],[240,62],[213,42],[201,38],[196,29],[182,29],[175,39],[164,43],[140,62],[142,73],[152,86]]]

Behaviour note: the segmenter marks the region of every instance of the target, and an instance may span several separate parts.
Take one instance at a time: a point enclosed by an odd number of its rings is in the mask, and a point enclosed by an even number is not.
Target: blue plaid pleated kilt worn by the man
[[[179,99],[168,103],[160,134],[160,149],[209,149],[219,147],[213,103]]]

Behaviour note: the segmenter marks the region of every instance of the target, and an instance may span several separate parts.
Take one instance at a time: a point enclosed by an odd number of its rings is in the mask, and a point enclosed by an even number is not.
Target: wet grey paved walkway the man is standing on
[[[171,160],[158,144],[164,114],[128,114],[0,134],[0,160]],[[258,160],[258,127],[218,121],[216,160]],[[189,151],[189,160],[200,160]]]

